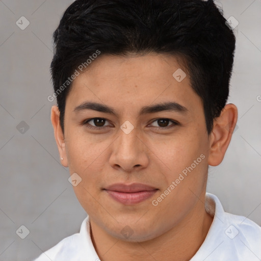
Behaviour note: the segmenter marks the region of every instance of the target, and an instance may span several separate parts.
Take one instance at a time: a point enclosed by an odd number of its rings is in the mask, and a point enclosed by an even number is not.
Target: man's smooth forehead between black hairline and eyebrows
[[[75,108],[86,100],[134,111],[166,101],[190,111],[201,105],[184,66],[174,56],[159,54],[100,56],[75,78],[66,103]]]

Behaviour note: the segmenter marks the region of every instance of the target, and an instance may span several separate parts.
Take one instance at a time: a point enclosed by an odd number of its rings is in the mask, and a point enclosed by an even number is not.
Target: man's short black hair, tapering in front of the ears
[[[181,58],[203,102],[208,135],[226,105],[236,37],[213,0],[76,0],[53,39],[50,70],[63,132],[68,77],[81,64],[88,68],[94,54]]]

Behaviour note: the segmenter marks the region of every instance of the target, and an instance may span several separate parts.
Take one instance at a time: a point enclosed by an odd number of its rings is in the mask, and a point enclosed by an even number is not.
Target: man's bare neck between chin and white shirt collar
[[[179,224],[145,242],[127,242],[112,237],[90,219],[91,239],[100,260],[190,260],[202,245],[213,221],[205,212],[204,196]]]

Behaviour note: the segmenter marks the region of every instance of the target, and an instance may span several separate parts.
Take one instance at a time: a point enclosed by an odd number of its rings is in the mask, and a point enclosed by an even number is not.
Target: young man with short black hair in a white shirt
[[[260,260],[261,228],[206,193],[238,112],[212,0],[77,0],[54,33],[61,164],[88,214],[41,260]]]

